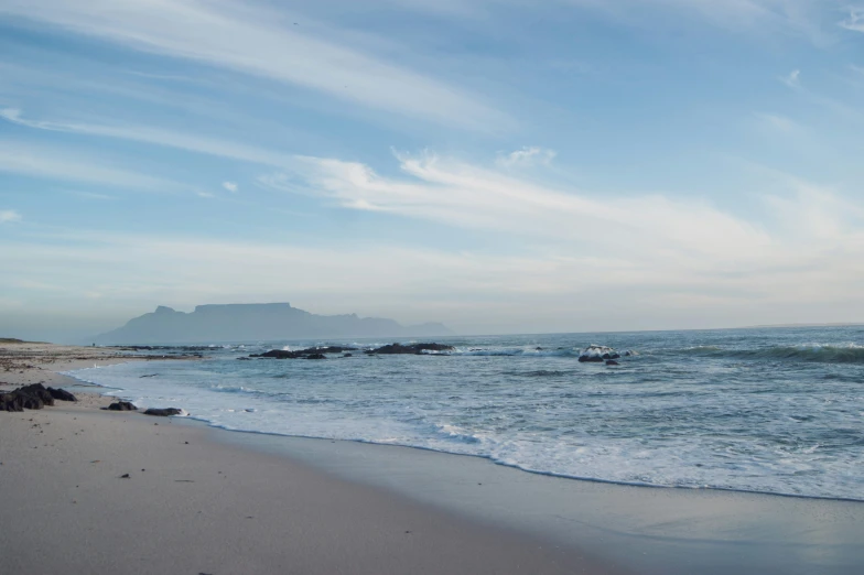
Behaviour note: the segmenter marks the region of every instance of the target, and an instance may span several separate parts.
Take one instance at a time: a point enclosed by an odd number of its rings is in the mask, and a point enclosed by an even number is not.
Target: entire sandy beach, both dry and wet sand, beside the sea
[[[4,390],[46,381],[82,399],[0,413],[0,554],[9,573],[853,574],[864,566],[858,501],[581,481],[479,457],[107,412],[98,408],[111,399],[82,394],[86,388],[54,370],[125,358],[98,348],[2,349],[14,362],[0,372]]]

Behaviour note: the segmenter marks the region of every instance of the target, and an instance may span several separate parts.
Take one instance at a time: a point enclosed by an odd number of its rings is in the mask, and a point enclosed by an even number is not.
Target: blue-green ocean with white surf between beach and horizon
[[[864,326],[435,340],[455,350],[235,343],[206,347],[201,361],[69,375],[226,430],[404,445],[598,481],[864,500]],[[237,359],[321,345],[360,349]],[[590,345],[633,355],[580,362]]]

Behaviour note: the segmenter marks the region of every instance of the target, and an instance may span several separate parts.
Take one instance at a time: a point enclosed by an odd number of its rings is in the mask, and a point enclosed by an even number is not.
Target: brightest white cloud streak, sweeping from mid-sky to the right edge
[[[434,155],[406,155],[400,162],[404,178],[380,176],[359,163],[305,158],[292,172],[271,174],[261,182],[321,196],[350,209],[521,238],[564,258],[600,258],[629,269],[649,267],[670,279],[685,273],[746,274],[804,262],[809,265],[842,246],[821,234],[796,235],[795,226],[787,225],[796,214],[814,217],[812,204],[802,204],[796,195],[800,184],[792,180],[782,182],[790,189],[788,197],[773,198],[770,209],[754,214],[750,221],[702,200],[559,189]],[[825,197],[833,196],[825,192]],[[777,202],[786,207],[778,209]],[[842,218],[856,211],[819,214],[842,230],[847,242],[844,249],[862,248],[864,235],[842,224]],[[858,219],[864,223],[864,217]]]

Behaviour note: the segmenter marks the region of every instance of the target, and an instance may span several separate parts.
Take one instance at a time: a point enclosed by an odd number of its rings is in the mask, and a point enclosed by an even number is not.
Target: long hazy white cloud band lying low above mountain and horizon
[[[87,294],[106,294],[93,314],[121,306],[141,313],[156,303],[288,300],[318,313],[438,319],[463,330],[728,326],[812,318],[813,306],[831,312],[823,321],[860,318],[864,214],[850,214],[849,203],[830,191],[798,185],[793,195],[768,203],[791,236],[777,234],[767,249],[754,246],[753,252],[733,238],[720,256],[700,249],[696,258],[682,258],[687,246],[661,247],[649,236],[649,250],[630,242],[615,248],[603,230],[585,246],[558,240],[507,256],[71,230],[8,242],[0,269],[17,273],[0,274],[0,293],[42,310],[86,306]],[[698,211],[679,217],[687,216],[714,228],[722,245],[723,230],[710,218],[700,220]]]

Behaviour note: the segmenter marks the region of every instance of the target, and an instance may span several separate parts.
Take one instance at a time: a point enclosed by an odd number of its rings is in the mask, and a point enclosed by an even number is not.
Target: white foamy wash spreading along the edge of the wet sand
[[[813,346],[810,346],[813,347]],[[855,346],[846,346],[855,347]],[[860,347],[860,346],[858,346]],[[717,352],[723,351],[720,348],[692,348],[691,352]],[[735,351],[735,350],[726,350]],[[680,350],[676,350],[680,354]],[[679,356],[680,357],[680,356]],[[231,364],[234,365],[234,364]],[[143,368],[136,368],[130,365],[126,370],[114,369],[110,371],[128,371],[126,378],[118,377],[121,373],[111,375],[108,377],[106,373],[100,373],[99,377],[94,379],[102,381],[116,381],[117,384],[123,386],[123,379],[129,383],[137,386],[137,389],[143,391],[126,391],[118,390],[111,392],[112,395],[122,397],[125,393],[134,399],[136,402],[143,404],[148,400],[154,398],[163,398],[168,392],[173,391],[165,388],[165,382],[169,378],[163,378],[160,381],[140,380],[138,373]],[[183,366],[180,366],[183,367]],[[176,366],[175,366],[176,368]],[[136,371],[136,369],[138,369]],[[105,370],[99,370],[105,371]],[[77,379],[84,379],[85,373],[94,373],[95,371],[72,372],[68,373]],[[547,370],[526,370],[525,375],[533,377],[550,377],[555,371]],[[105,376],[105,377],[102,377]],[[89,378],[88,378],[89,379]],[[98,384],[98,383],[97,383]],[[151,386],[158,386],[158,389],[151,390]],[[117,389],[117,388],[114,388]],[[184,387],[180,384],[173,386],[174,390],[183,390]],[[402,427],[381,426],[380,423],[387,423],[381,420],[381,412],[377,411],[375,417],[370,421],[365,421],[368,412],[355,412],[350,405],[342,404],[342,411],[331,410],[330,408],[337,401],[328,398],[292,398],[288,403],[294,405],[310,405],[310,404],[327,404],[324,405],[324,411],[307,411],[305,409],[287,411],[280,408],[281,392],[256,392],[248,386],[237,386],[230,382],[220,382],[209,384],[207,387],[190,387],[191,394],[186,395],[184,400],[179,400],[180,404],[184,404],[192,412],[191,416],[194,420],[203,421],[215,427],[222,427],[230,431],[239,431],[247,433],[257,433],[264,435],[284,435],[296,437],[318,437],[326,440],[342,440],[358,443],[382,444],[382,445],[403,445],[406,447],[414,447],[426,451],[452,453],[456,455],[469,455],[488,459],[495,464],[518,468],[525,471],[562,477],[569,479],[591,480],[607,484],[634,485],[634,486],[650,486],[650,487],[670,487],[670,488],[700,488],[700,489],[723,489],[733,491],[755,491],[767,492],[774,495],[787,495],[793,497],[819,497],[827,499],[852,499],[860,500],[860,497],[854,490],[854,471],[850,473],[846,467],[841,465],[836,467],[836,463],[832,464],[832,459],[823,459],[818,465],[822,466],[824,471],[816,479],[808,479],[799,476],[800,471],[796,473],[793,480],[789,480],[789,475],[777,474],[764,476],[749,475],[753,468],[743,462],[741,471],[727,474],[725,476],[713,475],[713,471],[708,475],[698,476],[692,465],[681,466],[681,462],[692,464],[694,462],[711,463],[710,457],[705,458],[705,453],[702,451],[694,452],[696,459],[687,459],[682,454],[669,449],[660,449],[651,459],[645,459],[642,451],[647,449],[645,445],[639,442],[636,445],[624,446],[614,451],[606,449],[601,443],[585,443],[575,448],[572,442],[562,440],[562,435],[543,435],[548,431],[555,431],[553,428],[543,428],[542,432],[537,432],[538,427],[531,427],[531,433],[528,438],[514,441],[511,435],[503,434],[497,431],[490,431],[487,426],[479,425],[475,427],[472,423],[473,419],[454,421],[452,416],[434,417],[432,421],[421,420],[419,426],[417,420],[411,420],[412,425],[407,431]],[[204,393],[203,393],[204,392]],[[250,393],[251,397],[240,401],[236,395],[235,399],[223,395],[222,398],[214,398],[206,392],[222,392],[222,393]],[[447,394],[451,393],[447,391]],[[638,394],[639,401],[645,401],[649,395]],[[179,395],[177,395],[179,397]],[[659,397],[659,395],[657,395]],[[453,397],[447,395],[450,400]],[[593,402],[593,395],[585,395],[584,393],[573,394],[573,398],[580,399],[581,402]],[[587,398],[587,399],[585,399]],[[597,395],[602,402],[608,402],[608,395]],[[173,401],[173,400],[172,400]],[[560,401],[560,400],[559,400]],[[290,408],[291,405],[289,405]],[[314,405],[313,405],[314,406]],[[338,405],[337,405],[338,406]],[[341,424],[335,427],[322,426],[317,422],[322,420],[321,415],[326,414],[323,419],[332,419],[333,414],[345,415],[346,419],[352,413],[358,414],[365,421],[361,427],[352,425],[350,421],[347,424]],[[342,419],[342,417],[338,417]],[[799,420],[791,416],[793,424],[798,424]],[[500,423],[500,420],[496,420]],[[371,425],[369,425],[371,423]],[[496,423],[496,425],[498,425]],[[550,423],[550,425],[552,425]],[[566,430],[562,430],[568,433]],[[854,430],[850,430],[851,436],[854,435]],[[538,441],[542,440],[542,441]],[[616,440],[616,443],[619,440]],[[810,456],[813,452],[822,451],[821,441],[808,442],[807,446],[801,451],[784,451],[780,456],[784,458],[792,458],[799,460],[801,454]],[[844,448],[850,448],[856,444],[844,445]],[[594,449],[594,455],[587,459],[580,460],[573,458],[573,453],[582,449]],[[708,454],[710,455],[710,453]],[[721,457],[723,455],[721,454]],[[820,457],[822,457],[820,455]],[[636,469],[633,462],[637,462],[638,466],[644,466],[641,469]],[[639,463],[641,462],[641,463]],[[807,463],[812,462],[808,459]],[[844,464],[842,459],[838,459],[840,464]],[[795,463],[795,462],[792,462]],[[816,464],[813,464],[816,465]],[[833,465],[833,466],[832,466]],[[699,465],[701,468],[701,465]],[[716,468],[720,470],[720,467]],[[638,471],[638,473],[635,473]],[[757,471],[757,473],[764,473]],[[852,478],[852,482],[849,479]],[[797,492],[797,491],[801,492]]]

